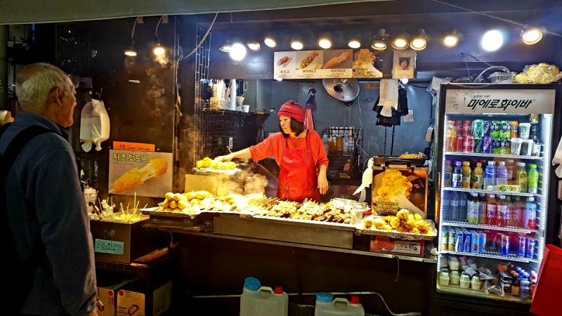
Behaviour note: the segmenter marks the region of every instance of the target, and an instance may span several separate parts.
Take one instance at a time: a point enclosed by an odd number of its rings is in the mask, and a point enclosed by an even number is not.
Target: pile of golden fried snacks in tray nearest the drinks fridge
[[[396,232],[410,232],[412,234],[433,235],[431,225],[427,223],[419,214],[411,214],[407,209],[401,209],[396,216],[363,218],[359,226],[367,230],[386,230]]]

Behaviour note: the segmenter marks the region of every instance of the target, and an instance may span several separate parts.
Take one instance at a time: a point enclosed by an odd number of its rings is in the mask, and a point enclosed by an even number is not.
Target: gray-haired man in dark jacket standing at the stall
[[[0,315],[97,315],[93,242],[67,130],[76,91],[44,63],[25,67],[15,88],[23,111],[0,138],[0,271],[15,281],[3,282]]]

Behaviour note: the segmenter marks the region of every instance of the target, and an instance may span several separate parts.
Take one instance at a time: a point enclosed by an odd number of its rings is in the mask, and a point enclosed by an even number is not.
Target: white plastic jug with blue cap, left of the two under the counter
[[[261,287],[255,277],[247,277],[240,296],[240,316],[287,316],[289,296],[282,287]]]

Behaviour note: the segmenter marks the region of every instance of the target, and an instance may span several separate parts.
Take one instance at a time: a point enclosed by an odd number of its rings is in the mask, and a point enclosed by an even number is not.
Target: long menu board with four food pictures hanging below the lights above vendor
[[[382,78],[374,67],[379,51],[361,49],[275,52],[275,79]]]

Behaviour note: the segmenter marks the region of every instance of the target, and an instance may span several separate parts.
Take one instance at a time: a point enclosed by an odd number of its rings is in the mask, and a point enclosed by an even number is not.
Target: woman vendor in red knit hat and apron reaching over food
[[[277,116],[280,133],[269,136],[258,145],[218,159],[230,162],[234,158],[251,156],[254,162],[258,162],[273,156],[280,166],[277,183],[279,199],[299,203],[304,199],[320,202],[320,193],[323,195],[328,190],[328,159],[324,143],[318,133],[305,130],[303,107],[299,103],[285,103]]]

